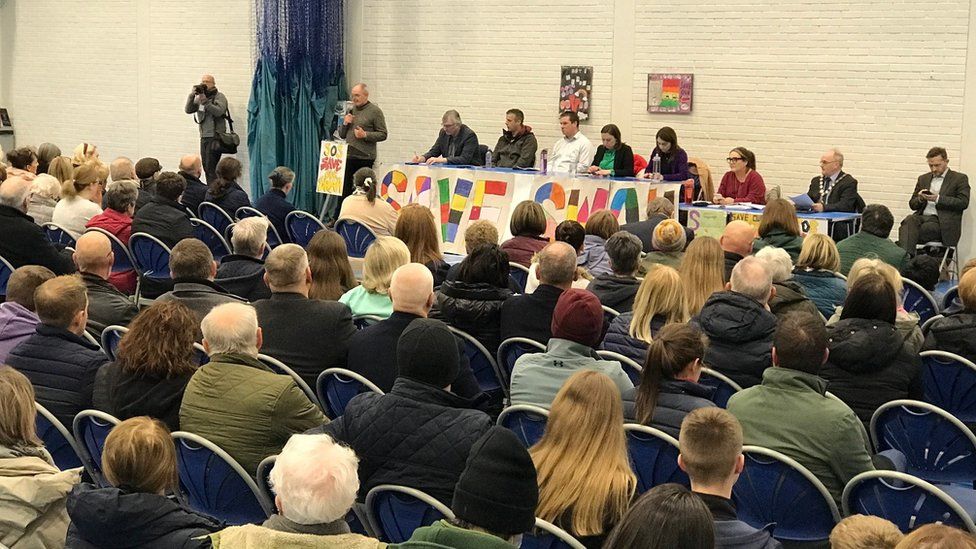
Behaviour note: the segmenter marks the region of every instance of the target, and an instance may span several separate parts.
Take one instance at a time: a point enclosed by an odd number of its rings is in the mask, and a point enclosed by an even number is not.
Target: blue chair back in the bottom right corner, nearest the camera
[[[974,500],[970,488],[936,487],[905,473],[868,471],[847,483],[841,504],[845,515],[878,516],[905,533],[934,522],[976,533],[970,514],[976,510]]]

